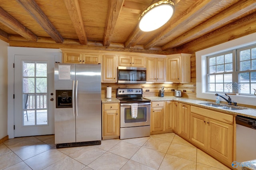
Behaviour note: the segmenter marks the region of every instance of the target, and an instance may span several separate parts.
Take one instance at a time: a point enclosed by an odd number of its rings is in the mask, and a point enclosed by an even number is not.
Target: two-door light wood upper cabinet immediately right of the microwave
[[[147,82],[165,82],[165,59],[147,58]]]

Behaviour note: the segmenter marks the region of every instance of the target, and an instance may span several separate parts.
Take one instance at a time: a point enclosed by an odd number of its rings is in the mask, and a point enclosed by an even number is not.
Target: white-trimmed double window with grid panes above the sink
[[[207,92],[252,96],[256,89],[256,45],[206,57]]]

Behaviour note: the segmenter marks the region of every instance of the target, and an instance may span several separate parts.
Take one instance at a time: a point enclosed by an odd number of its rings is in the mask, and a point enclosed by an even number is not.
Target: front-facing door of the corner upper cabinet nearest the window
[[[180,82],[180,58],[167,59],[167,81]]]

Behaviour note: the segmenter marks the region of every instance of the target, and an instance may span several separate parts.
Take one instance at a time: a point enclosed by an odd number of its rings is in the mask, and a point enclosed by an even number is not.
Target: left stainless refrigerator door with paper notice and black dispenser
[[[59,78],[59,65],[68,66],[68,70],[63,71],[63,74],[68,74],[66,78]],[[70,68],[70,69],[69,69]],[[64,69],[64,68],[63,68]],[[70,70],[70,73],[69,73]],[[67,72],[65,72],[67,71]],[[70,79],[67,77],[70,74]],[[55,90],[75,90],[73,83],[75,80],[75,64],[57,64],[55,63],[54,70],[54,88]],[[74,99],[74,96],[72,96]],[[73,143],[76,142],[76,119],[72,108],[55,108],[55,143]]]

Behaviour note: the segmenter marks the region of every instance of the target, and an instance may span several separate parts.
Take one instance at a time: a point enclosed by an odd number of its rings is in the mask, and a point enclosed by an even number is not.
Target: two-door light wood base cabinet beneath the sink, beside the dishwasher
[[[233,115],[191,106],[191,143],[226,165],[233,161],[233,131]]]

